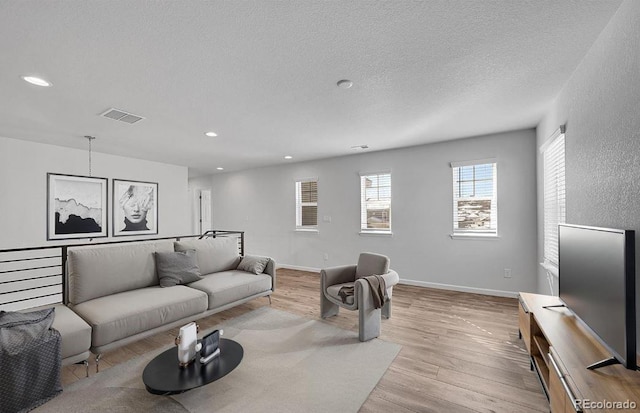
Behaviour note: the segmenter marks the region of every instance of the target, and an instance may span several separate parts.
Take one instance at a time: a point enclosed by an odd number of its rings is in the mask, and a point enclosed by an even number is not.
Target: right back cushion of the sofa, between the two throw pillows
[[[202,274],[234,270],[240,262],[238,240],[219,237],[174,242],[176,251],[196,250]]]

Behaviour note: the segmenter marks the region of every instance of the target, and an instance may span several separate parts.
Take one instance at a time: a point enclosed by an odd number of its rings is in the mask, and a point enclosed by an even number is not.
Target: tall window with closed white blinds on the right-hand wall
[[[544,262],[545,269],[558,274],[558,224],[565,222],[564,126],[541,148],[544,174]]]

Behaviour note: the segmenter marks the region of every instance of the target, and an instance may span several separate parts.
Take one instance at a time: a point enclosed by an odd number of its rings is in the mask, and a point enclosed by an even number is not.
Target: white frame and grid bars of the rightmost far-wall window
[[[475,184],[476,182],[486,181],[487,179],[475,179],[475,167],[480,165],[492,165],[492,195],[491,197],[479,197],[475,198],[471,197],[460,197],[459,196],[459,183],[460,182],[472,182],[474,192],[475,192]],[[452,222],[451,222],[451,238],[453,239],[498,239],[498,161],[496,158],[488,158],[488,159],[476,159],[471,161],[458,161],[451,162],[451,177],[452,177]],[[458,177],[456,177],[456,172],[459,171],[459,168],[473,166],[473,179],[471,180],[460,180],[458,172]],[[458,191],[456,192],[456,187],[458,187]],[[458,195],[456,195],[458,193]],[[489,199],[491,200],[491,209],[490,209],[490,223],[491,227],[489,229],[460,229],[456,228],[456,224],[458,222],[458,201],[465,199]]]

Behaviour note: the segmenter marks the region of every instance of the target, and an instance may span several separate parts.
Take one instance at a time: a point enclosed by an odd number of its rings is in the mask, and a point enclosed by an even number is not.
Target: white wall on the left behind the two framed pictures
[[[0,248],[88,242],[47,241],[47,172],[86,176],[88,152],[0,137]],[[109,234],[111,178],[158,182],[157,237],[191,234],[186,167],[93,152],[92,175],[109,178]]]

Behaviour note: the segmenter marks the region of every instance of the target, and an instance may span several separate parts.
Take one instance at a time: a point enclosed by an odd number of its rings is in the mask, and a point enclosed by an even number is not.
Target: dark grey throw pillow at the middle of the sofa
[[[202,279],[195,250],[155,252],[160,287],[189,284]]]

